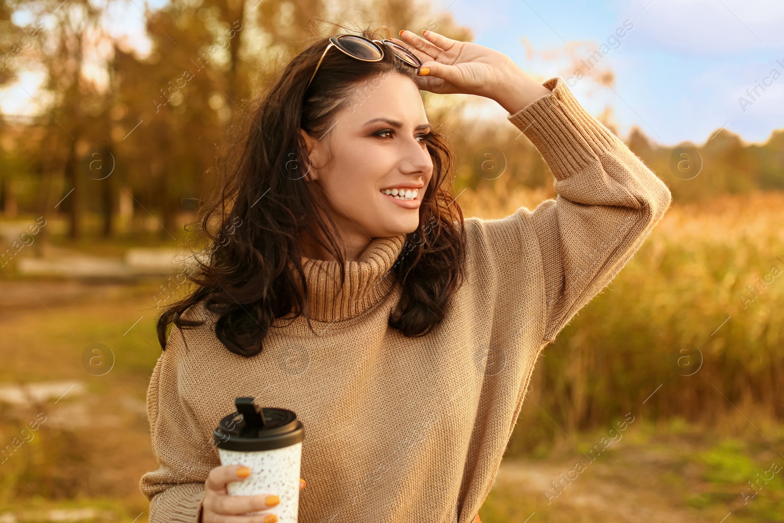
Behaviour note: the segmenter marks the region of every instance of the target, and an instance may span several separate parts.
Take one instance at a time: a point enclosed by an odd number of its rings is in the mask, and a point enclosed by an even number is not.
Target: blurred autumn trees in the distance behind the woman
[[[120,194],[135,208],[132,231],[150,228],[163,241],[178,238],[183,212],[192,212],[192,203],[220,183],[216,167],[224,146],[237,138],[231,133],[240,129],[240,119],[249,118],[252,97],[315,38],[366,26],[379,27],[387,38],[397,38],[402,28],[474,38],[448,11],[412,0],[172,0],[145,11],[151,51],[142,53],[133,42],[109,34],[103,16],[110,6],[86,0],[0,5],[5,49],[0,84],[23,70],[38,68],[45,76],[42,93],[30,93],[41,116],[27,125],[0,125],[0,201],[4,209],[18,206],[23,214],[67,212],[72,238],[82,233],[87,213],[100,215],[95,232],[116,234]],[[17,26],[12,20],[34,21]],[[99,74],[93,72],[96,64],[103,67]],[[601,89],[612,84],[601,78],[592,82]],[[506,191],[551,187],[539,152],[517,129],[470,121],[465,110],[478,101],[475,97],[422,95],[431,122],[456,151],[456,193],[494,183],[477,169],[476,160],[485,158],[488,147],[506,166]],[[597,118],[615,129],[611,116],[608,109]],[[677,147],[658,147],[640,129],[633,129],[629,143],[676,199],[713,197],[714,189],[784,187],[782,134],[761,146],[748,146],[727,131],[702,146],[681,144],[702,157],[704,168],[693,180],[671,171]],[[35,199],[38,203],[31,203]],[[41,239],[49,232],[43,229]]]

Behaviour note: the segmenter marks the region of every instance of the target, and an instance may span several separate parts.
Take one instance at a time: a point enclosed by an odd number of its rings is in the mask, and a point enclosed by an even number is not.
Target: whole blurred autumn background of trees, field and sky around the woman
[[[318,19],[560,76],[673,192],[539,359],[482,521],[784,521],[781,2],[0,0],[0,523],[147,520],[183,227]],[[466,216],[554,196],[498,104],[423,97]]]

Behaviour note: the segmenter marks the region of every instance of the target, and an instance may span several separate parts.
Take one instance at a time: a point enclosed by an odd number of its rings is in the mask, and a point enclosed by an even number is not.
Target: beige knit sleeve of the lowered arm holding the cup
[[[198,523],[204,483],[209,471],[220,464],[212,442],[183,399],[178,369],[182,336],[180,329],[172,328],[147,389],[147,416],[158,470],[143,474],[140,490],[150,500],[151,523]]]

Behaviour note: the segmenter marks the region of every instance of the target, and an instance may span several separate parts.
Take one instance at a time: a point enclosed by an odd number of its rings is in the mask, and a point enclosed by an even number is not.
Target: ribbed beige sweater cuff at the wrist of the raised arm
[[[564,180],[596,162],[619,138],[583,109],[561,78],[542,85],[552,92],[506,118],[539,149],[553,176]]]

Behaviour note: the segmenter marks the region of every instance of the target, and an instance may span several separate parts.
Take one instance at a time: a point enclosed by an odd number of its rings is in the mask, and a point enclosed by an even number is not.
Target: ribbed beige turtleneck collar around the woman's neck
[[[302,257],[307,280],[310,318],[339,321],[362,314],[379,303],[394,285],[390,269],[400,255],[405,233],[373,238],[358,260],[347,260],[346,281],[340,285],[340,265],[336,260]]]

